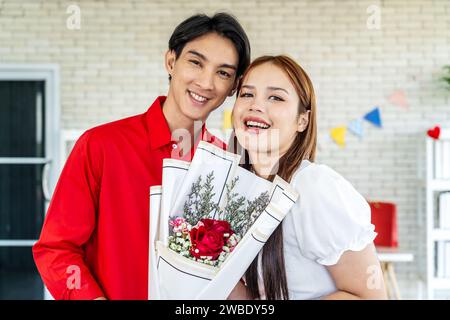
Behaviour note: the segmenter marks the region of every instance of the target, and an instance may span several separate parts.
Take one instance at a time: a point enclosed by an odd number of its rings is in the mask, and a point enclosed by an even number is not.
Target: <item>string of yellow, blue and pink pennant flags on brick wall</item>
[[[391,95],[389,95],[388,101],[404,110],[409,108],[406,94],[402,90],[394,91]],[[361,139],[364,136],[364,121],[371,123],[377,128],[383,128],[380,107],[374,106],[374,108],[367,112],[363,117],[351,120],[346,126],[332,128],[330,130],[331,139],[333,139],[333,141],[340,147],[345,146],[345,136],[347,131]]]

